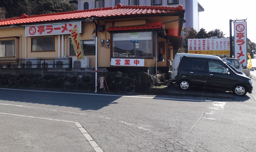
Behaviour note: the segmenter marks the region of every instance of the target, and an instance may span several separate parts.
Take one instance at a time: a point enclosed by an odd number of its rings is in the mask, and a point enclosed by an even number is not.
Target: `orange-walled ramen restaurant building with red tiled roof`
[[[120,72],[168,72],[180,47],[185,10],[122,6],[0,20],[1,68],[96,68]],[[70,37],[78,28],[84,60]],[[66,59],[68,60],[66,61]]]

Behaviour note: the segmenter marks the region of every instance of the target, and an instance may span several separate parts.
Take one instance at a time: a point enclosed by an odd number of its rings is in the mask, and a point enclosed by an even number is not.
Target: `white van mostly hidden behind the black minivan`
[[[220,57],[214,56],[214,55],[199,55],[199,54],[190,54],[190,53],[177,53],[174,57],[174,60],[172,62],[172,80],[175,80],[177,77],[177,72],[178,72],[178,66],[180,63],[180,59],[183,56],[187,57],[199,57],[199,58],[216,58],[221,60]]]

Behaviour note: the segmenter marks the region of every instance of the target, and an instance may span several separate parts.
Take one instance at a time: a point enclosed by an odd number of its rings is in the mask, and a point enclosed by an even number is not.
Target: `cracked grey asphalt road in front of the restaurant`
[[[0,88],[0,152],[254,152],[255,97]]]

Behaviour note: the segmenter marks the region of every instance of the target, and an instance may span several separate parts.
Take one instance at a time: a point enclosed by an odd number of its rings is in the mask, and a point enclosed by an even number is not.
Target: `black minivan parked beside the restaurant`
[[[238,96],[252,93],[252,79],[232,70],[221,58],[184,56],[178,66],[176,83],[182,90],[199,86],[232,91]]]

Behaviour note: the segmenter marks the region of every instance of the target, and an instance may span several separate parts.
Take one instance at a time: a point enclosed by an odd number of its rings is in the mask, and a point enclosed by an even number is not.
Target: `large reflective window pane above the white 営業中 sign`
[[[152,32],[113,33],[112,57],[153,57]]]

